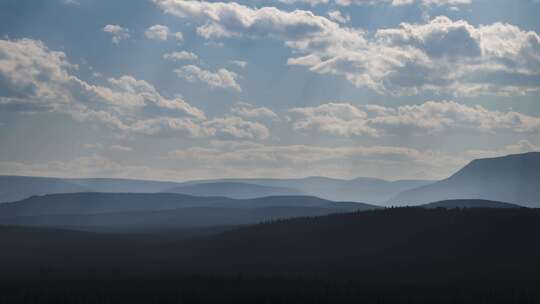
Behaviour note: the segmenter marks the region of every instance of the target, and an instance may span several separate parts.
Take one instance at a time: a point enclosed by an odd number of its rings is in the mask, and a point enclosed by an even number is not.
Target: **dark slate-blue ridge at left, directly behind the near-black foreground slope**
[[[148,231],[236,226],[378,207],[309,196],[257,199],[183,194],[72,193],[0,205],[0,224],[90,231]]]

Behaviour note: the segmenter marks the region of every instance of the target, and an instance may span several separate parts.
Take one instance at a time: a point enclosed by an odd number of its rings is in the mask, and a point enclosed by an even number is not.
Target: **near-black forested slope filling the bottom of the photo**
[[[539,303],[539,232],[538,210],[481,208],[303,218],[191,240],[1,228],[0,297],[9,303]]]

